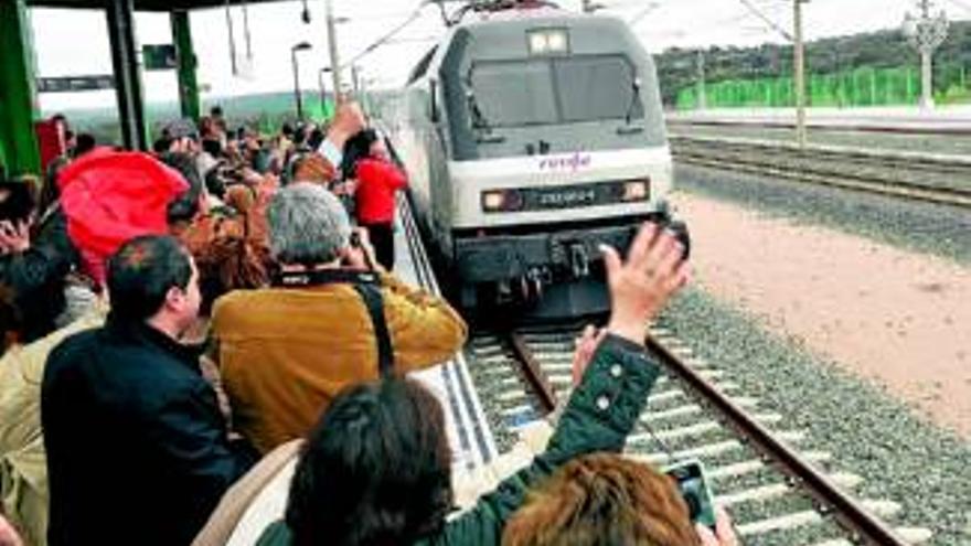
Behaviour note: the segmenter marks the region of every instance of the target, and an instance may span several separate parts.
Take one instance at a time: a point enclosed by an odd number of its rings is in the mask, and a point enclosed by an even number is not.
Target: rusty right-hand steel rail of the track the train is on
[[[775,438],[766,427],[734,404],[711,382],[654,338],[648,336],[648,347],[662,358],[662,363],[677,375],[727,421],[727,426],[767,456],[777,470],[787,474],[793,484],[801,484],[819,504],[821,513],[831,513],[835,520],[854,535],[860,544],[879,546],[905,546],[907,543],[884,522],[874,517],[860,503],[843,493],[830,479],[812,467],[785,442]]]

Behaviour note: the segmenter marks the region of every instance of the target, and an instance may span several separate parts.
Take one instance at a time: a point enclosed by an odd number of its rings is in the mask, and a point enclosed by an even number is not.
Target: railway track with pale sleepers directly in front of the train
[[[529,438],[572,388],[572,355],[579,328],[478,333],[467,361],[508,471],[531,456]],[[862,477],[839,470],[839,453],[814,449],[798,428],[746,396],[730,373],[692,355],[687,345],[654,328],[649,349],[662,364],[628,457],[665,464],[697,457],[709,470],[716,499],[733,514],[744,544],[849,546],[920,544],[932,533],[894,526],[903,510],[893,500],[856,499]],[[533,440],[535,441],[535,440]],[[538,449],[538,448],[535,448]],[[501,477],[500,477],[501,478]]]

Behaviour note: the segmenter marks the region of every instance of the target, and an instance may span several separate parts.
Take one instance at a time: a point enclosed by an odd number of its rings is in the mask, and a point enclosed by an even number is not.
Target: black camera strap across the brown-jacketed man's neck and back
[[[351,285],[364,301],[367,315],[374,328],[377,343],[377,370],[382,377],[392,375],[394,347],[387,321],[384,320],[384,297],[381,293],[381,277],[373,271],[349,271],[346,269],[319,269],[311,271],[282,271],[274,276],[273,286],[284,288],[317,287],[324,285]]]

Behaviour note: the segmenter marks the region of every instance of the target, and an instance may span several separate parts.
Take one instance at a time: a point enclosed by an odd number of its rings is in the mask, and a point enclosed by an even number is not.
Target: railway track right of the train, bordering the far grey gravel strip
[[[671,146],[683,163],[971,207],[971,160],[959,156],[685,136]]]

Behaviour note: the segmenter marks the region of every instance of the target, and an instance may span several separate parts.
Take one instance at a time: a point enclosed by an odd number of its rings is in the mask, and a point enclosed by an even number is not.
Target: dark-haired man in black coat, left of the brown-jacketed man
[[[47,360],[41,421],[51,546],[191,543],[254,462],[230,442],[199,353],[199,274],[167,236],[129,240],[108,261],[111,311]]]

